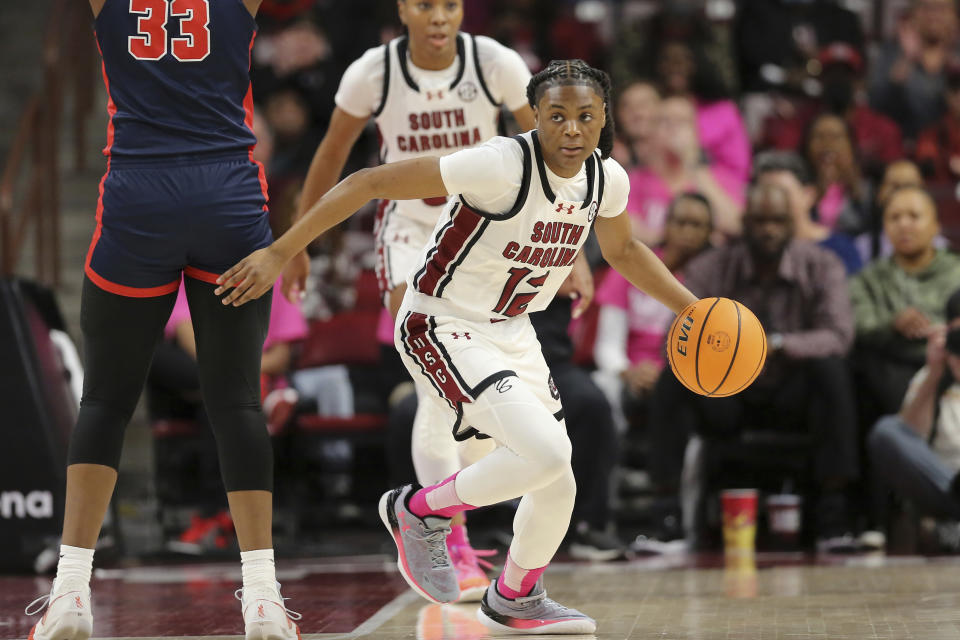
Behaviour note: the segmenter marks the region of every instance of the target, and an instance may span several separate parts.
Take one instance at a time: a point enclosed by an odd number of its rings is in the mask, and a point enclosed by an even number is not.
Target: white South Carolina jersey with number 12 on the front
[[[553,300],[600,210],[603,162],[594,151],[584,163],[583,200],[561,201],[547,180],[537,132],[513,140],[523,151],[523,178],[513,207],[492,214],[462,195],[451,198],[408,280],[411,291],[491,320],[540,311]]]

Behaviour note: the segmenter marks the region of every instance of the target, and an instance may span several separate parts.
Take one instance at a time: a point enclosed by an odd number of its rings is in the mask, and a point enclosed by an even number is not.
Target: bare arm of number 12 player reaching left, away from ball
[[[415,158],[361,169],[310,207],[269,247],[254,251],[218,279],[215,293],[230,293],[223,304],[240,306],[273,287],[283,265],[324,231],[340,224],[370,200],[420,200],[446,196],[438,158]]]

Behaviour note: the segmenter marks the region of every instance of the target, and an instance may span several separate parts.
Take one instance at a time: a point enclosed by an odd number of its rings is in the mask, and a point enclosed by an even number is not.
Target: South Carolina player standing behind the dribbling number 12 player
[[[496,40],[461,33],[461,0],[398,0],[397,10],[406,35],[368,50],[340,80],[330,127],[304,184],[301,215],[337,182],[370,118],[377,125],[384,163],[447,155],[486,142],[497,135],[501,104],[523,131],[534,126],[526,98],[526,64]],[[390,312],[381,318],[378,333],[384,340],[393,336],[407,274],[418,266],[446,203],[445,197],[380,202],[374,238],[377,284]],[[297,256],[284,280],[301,280],[306,262],[305,254]],[[430,402],[418,402],[411,437],[417,480],[425,485],[460,469],[461,452],[476,455],[457,446],[443,418],[432,416],[431,408]],[[478,566],[464,521],[463,514],[454,519],[447,544],[461,600],[479,600],[490,581]]]

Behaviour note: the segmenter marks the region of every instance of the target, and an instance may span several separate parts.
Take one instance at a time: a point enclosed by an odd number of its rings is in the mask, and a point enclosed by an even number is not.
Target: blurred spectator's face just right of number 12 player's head
[[[613,157],[625,169],[650,163],[659,106],[660,92],[645,80],[631,82],[619,91]]]

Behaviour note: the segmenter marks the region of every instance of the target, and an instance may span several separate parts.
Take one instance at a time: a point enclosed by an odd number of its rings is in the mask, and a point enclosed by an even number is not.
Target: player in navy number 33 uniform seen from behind
[[[260,409],[270,296],[228,308],[217,274],[272,241],[252,160],[250,51],[260,0],[90,0],[107,90],[107,171],[81,303],[83,398],[71,434],[60,561],[31,640],[93,629],[94,546],[123,433],[185,275],[204,404],[240,544],[249,640],[295,640],[276,582],[273,454]]]

